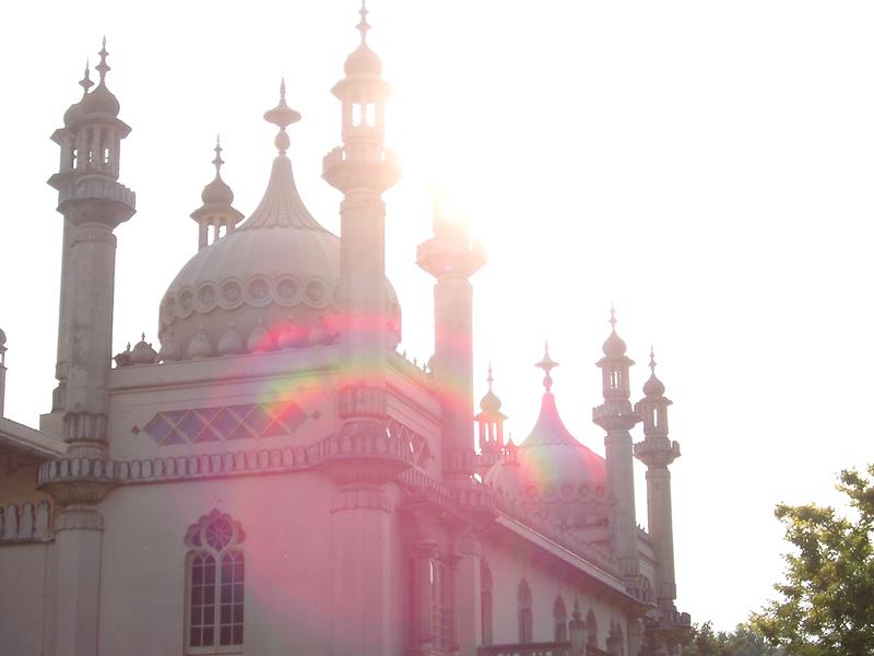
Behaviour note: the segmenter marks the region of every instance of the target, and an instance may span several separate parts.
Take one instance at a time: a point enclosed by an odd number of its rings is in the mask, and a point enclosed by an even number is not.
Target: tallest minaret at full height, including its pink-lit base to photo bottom
[[[400,168],[383,148],[389,85],[382,65],[367,45],[367,10],[362,3],[361,44],[345,62],[346,77],[333,87],[342,103],[343,145],[323,159],[322,176],[343,192],[340,203],[340,277],[345,298],[338,376],[340,448],[321,465],[336,483],[331,502],[333,577],[331,653],[383,656],[394,651],[392,624],[397,589],[392,540],[393,502],[386,487],[408,462],[390,446],[385,361],[386,204],[382,192]]]

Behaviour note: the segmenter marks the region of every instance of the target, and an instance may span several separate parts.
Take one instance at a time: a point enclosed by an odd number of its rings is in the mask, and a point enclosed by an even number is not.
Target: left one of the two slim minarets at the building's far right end
[[[604,402],[592,409],[592,421],[606,431],[604,450],[607,464],[607,489],[613,514],[613,539],[626,586],[636,590],[637,522],[635,519],[635,479],[629,431],[640,421],[628,400],[631,396],[628,370],[634,361],[625,354],[625,342],[616,333],[616,314],[610,309],[611,333],[603,345],[604,356],[597,365],[602,372]]]

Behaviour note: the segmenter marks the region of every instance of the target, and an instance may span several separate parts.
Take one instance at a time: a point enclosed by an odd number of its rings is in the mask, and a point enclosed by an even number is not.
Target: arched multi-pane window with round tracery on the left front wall
[[[243,647],[246,539],[238,522],[213,509],[188,527],[187,654],[234,653]]]

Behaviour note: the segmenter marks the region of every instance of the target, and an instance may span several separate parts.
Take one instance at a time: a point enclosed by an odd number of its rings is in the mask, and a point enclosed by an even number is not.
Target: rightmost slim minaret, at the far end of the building
[[[650,350],[652,374],[643,385],[643,398],[635,411],[643,418],[643,441],[635,444],[635,456],[647,466],[649,532],[656,548],[656,595],[659,608],[675,611],[674,529],[671,516],[671,471],[680,457],[680,443],[668,437],[668,406],[664,384],[656,376],[656,355]]]

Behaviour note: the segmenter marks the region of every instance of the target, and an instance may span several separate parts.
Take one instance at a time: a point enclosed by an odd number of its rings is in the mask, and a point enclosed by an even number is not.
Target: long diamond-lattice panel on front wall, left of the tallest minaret
[[[193,444],[288,435],[307,417],[294,401],[246,403],[158,412],[143,430],[161,445]]]

